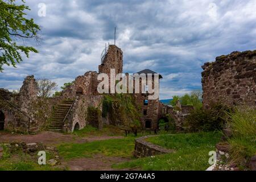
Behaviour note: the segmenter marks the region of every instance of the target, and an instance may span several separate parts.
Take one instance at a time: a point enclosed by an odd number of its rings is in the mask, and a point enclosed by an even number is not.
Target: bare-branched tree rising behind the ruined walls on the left
[[[38,86],[38,96],[49,97],[52,92],[57,89],[57,84],[47,78],[41,78],[36,81]]]

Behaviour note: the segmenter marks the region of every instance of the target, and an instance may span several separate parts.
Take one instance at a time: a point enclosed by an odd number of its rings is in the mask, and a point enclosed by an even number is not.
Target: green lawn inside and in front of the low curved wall
[[[143,170],[205,170],[209,167],[209,151],[215,150],[220,133],[193,133],[160,135],[148,138],[149,142],[175,149],[172,154],[158,155],[114,164],[117,169],[141,168]]]

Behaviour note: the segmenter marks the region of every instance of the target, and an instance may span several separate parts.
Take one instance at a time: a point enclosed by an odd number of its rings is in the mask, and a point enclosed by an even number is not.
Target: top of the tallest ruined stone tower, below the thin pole
[[[123,52],[115,45],[109,45],[102,52],[98,72],[106,73],[110,77],[110,69],[115,69],[115,75],[123,72]]]

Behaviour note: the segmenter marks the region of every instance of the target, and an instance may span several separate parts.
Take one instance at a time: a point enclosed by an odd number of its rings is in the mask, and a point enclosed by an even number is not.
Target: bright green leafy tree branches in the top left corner
[[[20,53],[27,57],[30,52],[38,52],[34,47],[19,46],[18,39],[39,40],[38,31],[40,27],[34,23],[34,19],[27,19],[26,10],[28,6],[16,5],[15,0],[0,0],[0,72],[3,65],[13,65],[22,61]]]

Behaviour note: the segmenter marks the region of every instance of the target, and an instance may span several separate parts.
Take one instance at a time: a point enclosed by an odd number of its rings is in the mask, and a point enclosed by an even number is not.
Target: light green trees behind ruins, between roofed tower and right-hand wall
[[[179,100],[181,105],[191,105],[194,106],[196,109],[200,109],[203,104],[200,100],[201,98],[201,91],[195,90],[191,92],[191,94],[184,94],[184,96],[173,96],[172,101],[170,104],[172,106],[176,105],[176,102]]]

